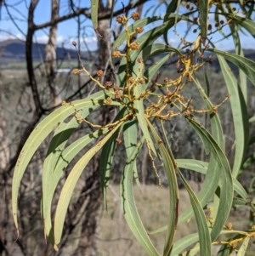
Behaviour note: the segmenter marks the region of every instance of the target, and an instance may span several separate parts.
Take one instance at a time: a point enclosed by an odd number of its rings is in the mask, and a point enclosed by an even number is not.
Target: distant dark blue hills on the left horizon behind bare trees
[[[45,44],[33,43],[32,54],[34,61],[45,60]],[[66,58],[77,60],[75,49],[56,48],[58,59]],[[92,53],[94,54],[94,53]],[[88,52],[82,52],[82,58],[89,58]],[[26,43],[21,40],[9,39],[0,42],[0,65],[24,62],[26,60]]]

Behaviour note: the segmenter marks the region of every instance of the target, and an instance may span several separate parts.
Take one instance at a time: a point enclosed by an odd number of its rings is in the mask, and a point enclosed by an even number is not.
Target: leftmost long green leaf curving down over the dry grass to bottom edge
[[[122,181],[120,185],[122,208],[125,219],[127,220],[127,224],[130,230],[132,230],[133,235],[136,237],[139,244],[144,247],[144,250],[148,253],[148,255],[160,256],[150,241],[150,237],[148,236],[146,230],[144,229],[144,225],[139,217],[139,213],[133,198],[133,165],[143,143],[144,138],[139,141],[137,148],[127,159],[124,171],[122,173]]]

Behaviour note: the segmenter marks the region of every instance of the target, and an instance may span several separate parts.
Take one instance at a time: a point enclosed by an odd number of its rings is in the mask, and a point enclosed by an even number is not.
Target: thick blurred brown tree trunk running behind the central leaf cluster
[[[99,13],[111,9],[111,0],[108,0],[106,6],[103,1],[99,1]],[[111,81],[111,74],[108,68],[111,66],[111,31],[110,20],[99,20],[98,23],[98,47],[99,47],[99,69],[105,71],[105,81]],[[99,114],[99,123],[105,125],[111,122],[111,111],[108,108],[102,108]],[[88,204],[85,208],[85,221],[82,224],[82,237],[78,248],[78,255],[94,256],[97,253],[96,230],[99,222],[99,210],[102,205],[102,194],[99,182],[99,159],[100,153],[94,156],[93,164],[84,191],[88,191]]]

